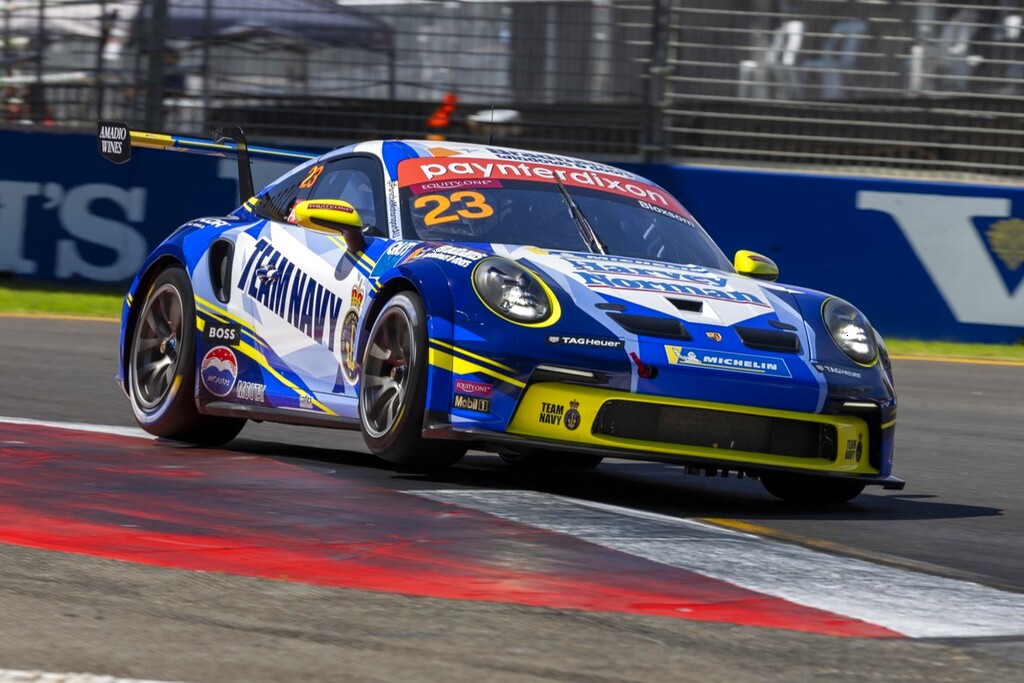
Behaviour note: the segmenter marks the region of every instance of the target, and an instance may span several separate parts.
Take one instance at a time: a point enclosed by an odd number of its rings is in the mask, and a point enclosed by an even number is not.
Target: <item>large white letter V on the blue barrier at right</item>
[[[1010,216],[1009,199],[863,190],[857,208],[893,217],[957,321],[1024,326],[1024,286],[1010,290],[973,222]]]

